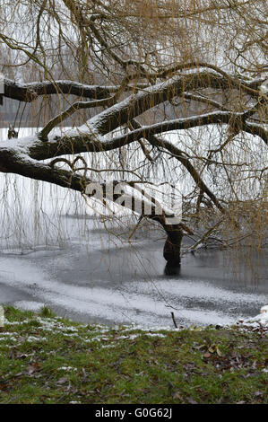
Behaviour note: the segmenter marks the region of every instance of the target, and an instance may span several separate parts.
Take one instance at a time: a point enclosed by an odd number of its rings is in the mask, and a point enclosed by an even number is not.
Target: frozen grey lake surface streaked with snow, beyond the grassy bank
[[[182,325],[234,322],[267,303],[264,257],[257,278],[249,268],[233,267],[221,251],[188,254],[180,269],[165,268],[157,233],[120,242],[89,218],[86,239],[76,235],[81,218],[62,218],[69,233],[73,227],[62,248],[0,253],[2,303],[33,310],[46,304],[76,321],[154,327],[172,327],[170,312]]]

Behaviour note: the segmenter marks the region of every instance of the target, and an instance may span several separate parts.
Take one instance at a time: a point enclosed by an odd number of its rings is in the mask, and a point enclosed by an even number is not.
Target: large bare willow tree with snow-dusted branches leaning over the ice
[[[1,143],[0,171],[90,196],[91,154],[105,157],[99,175],[115,151],[114,175],[123,172],[130,187],[155,169],[171,184],[187,178],[186,222],[169,224],[172,212],[157,214],[154,198],[146,215],[165,229],[171,262],[179,262],[182,236],[195,231],[201,211],[213,210],[216,221],[195,247],[232,219],[234,204],[263,207],[265,1],[1,3],[3,96],[30,103],[42,127],[36,136]],[[114,178],[114,187],[121,181]]]

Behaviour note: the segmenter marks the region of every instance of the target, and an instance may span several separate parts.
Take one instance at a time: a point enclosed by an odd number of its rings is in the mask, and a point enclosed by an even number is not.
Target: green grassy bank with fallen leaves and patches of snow
[[[0,403],[268,403],[263,330],[143,331],[5,308]]]

